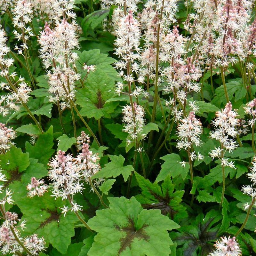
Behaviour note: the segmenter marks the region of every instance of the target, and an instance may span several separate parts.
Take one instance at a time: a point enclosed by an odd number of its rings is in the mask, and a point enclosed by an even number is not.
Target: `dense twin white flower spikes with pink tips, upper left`
[[[45,68],[51,68],[47,73],[49,79],[50,101],[61,102],[62,109],[70,106],[69,99],[75,98],[75,84],[80,75],[74,70],[78,55],[73,52],[78,48],[77,24],[68,20],[57,20],[52,30],[45,24],[39,37],[40,58]]]

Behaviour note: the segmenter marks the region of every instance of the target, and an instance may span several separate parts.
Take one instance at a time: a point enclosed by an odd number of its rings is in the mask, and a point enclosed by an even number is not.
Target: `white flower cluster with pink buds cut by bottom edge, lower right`
[[[211,252],[209,256],[241,256],[241,250],[239,244],[236,241],[236,237],[228,238],[226,236],[221,237],[214,246],[216,250]]]

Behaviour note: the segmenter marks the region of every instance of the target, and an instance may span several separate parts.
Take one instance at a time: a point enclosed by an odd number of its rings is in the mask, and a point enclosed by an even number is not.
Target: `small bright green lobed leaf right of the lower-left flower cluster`
[[[124,177],[124,181],[128,179],[131,172],[134,170],[132,165],[124,165],[124,157],[119,156],[109,156],[111,162],[105,164],[105,166],[96,174],[92,176],[93,179],[97,178],[116,178],[118,175],[122,174]]]

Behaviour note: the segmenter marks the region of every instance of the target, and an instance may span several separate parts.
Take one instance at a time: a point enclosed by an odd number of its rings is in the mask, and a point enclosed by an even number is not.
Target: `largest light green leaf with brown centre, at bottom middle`
[[[167,232],[180,226],[160,210],[143,209],[132,197],[108,197],[109,209],[96,211],[88,225],[98,232],[88,256],[168,256]]]

